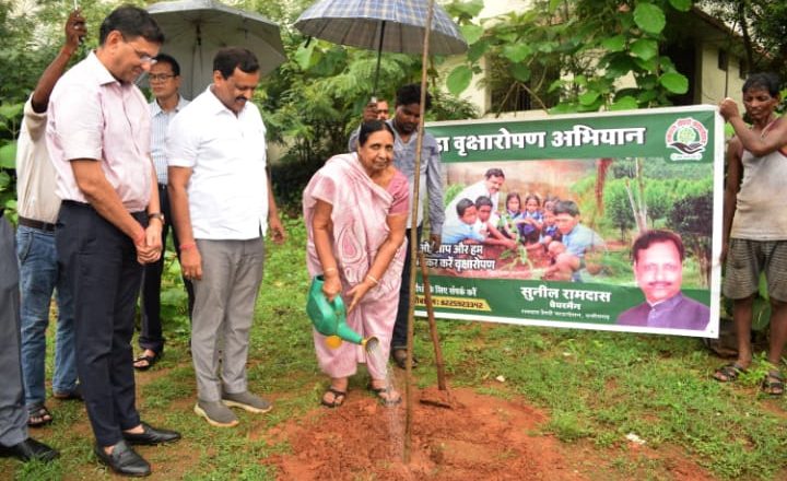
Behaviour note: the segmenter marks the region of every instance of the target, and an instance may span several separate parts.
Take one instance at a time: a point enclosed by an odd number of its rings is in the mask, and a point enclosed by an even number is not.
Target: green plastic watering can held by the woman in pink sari
[[[322,284],[325,278],[315,275],[309,288],[308,300],[306,301],[306,314],[312,319],[317,332],[326,336],[326,344],[331,349],[337,349],[342,341],[349,341],[354,344],[361,344],[365,350],[369,350],[379,341],[372,337],[364,339],[346,325],[346,310],[341,296],[333,297],[333,302],[322,293]]]

